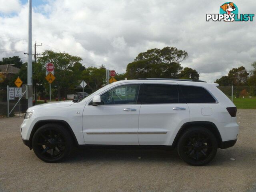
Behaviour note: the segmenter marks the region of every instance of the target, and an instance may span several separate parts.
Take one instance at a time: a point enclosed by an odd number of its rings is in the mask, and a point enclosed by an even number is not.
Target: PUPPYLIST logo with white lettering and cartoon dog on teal
[[[206,21],[253,21],[254,14],[238,15],[238,8],[233,2],[226,2],[220,6],[220,14],[206,14]]]

